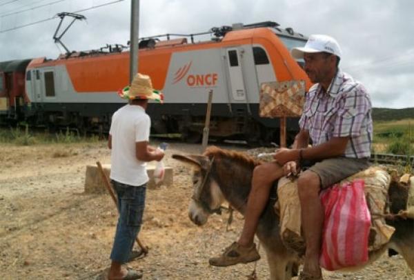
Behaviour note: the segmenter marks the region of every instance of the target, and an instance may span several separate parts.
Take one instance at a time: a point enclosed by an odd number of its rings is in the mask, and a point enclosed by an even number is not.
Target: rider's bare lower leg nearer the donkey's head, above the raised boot
[[[237,243],[249,248],[255,239],[259,217],[269,199],[273,182],[283,176],[283,169],[277,163],[264,163],[256,166],[253,171],[252,189],[248,194],[248,201],[244,215],[242,234]]]

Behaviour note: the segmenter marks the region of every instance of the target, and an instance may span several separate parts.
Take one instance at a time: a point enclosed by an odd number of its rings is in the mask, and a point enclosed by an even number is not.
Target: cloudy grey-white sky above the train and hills
[[[84,10],[87,18],[63,36],[70,50],[125,45],[130,6],[130,0],[0,0],[0,61],[55,59],[63,52],[52,40],[58,12]],[[259,21],[329,34],[342,47],[342,70],[364,83],[374,107],[407,108],[414,107],[413,12],[413,0],[141,0],[139,37]],[[43,22],[19,28],[37,21]]]

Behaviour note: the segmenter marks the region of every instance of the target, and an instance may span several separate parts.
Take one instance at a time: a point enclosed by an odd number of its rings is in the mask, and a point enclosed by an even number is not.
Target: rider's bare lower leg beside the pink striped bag
[[[302,214],[302,229],[306,241],[304,272],[313,277],[321,275],[319,253],[321,249],[324,212],[319,199],[319,176],[310,170],[304,172],[297,181]]]

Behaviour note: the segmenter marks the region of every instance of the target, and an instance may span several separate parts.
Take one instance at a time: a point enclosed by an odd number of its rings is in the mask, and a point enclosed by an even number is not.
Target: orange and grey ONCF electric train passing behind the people
[[[150,75],[153,86],[164,92],[164,104],[148,106],[152,133],[200,139],[213,90],[210,136],[277,141],[279,120],[259,117],[259,88],[263,82],[305,80],[308,89],[301,61],[290,56],[290,49],[304,46],[307,38],[272,21],[210,32],[210,40],[199,42],[191,34],[141,39],[139,72]],[[12,62],[20,68],[10,70]],[[112,113],[126,103],[116,92],[128,78],[129,52],[120,46],[58,59],[6,61],[0,63],[0,116],[105,132]],[[13,91],[17,85],[21,88]],[[296,130],[297,119],[288,120],[287,128]]]

